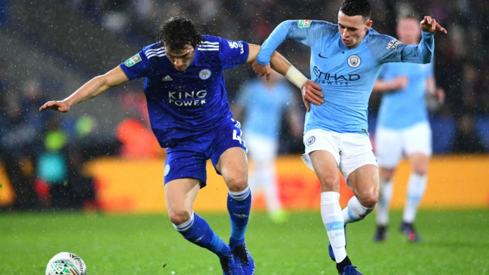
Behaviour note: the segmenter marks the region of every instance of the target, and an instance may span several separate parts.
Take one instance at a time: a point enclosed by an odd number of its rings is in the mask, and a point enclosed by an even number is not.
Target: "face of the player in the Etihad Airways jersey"
[[[347,16],[338,13],[338,29],[341,41],[348,49],[357,47],[365,37],[367,30],[372,27],[372,20],[365,20],[362,16]]]

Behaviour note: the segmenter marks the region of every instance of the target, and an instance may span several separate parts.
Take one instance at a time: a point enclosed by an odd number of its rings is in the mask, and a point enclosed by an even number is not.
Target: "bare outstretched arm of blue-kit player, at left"
[[[117,66],[116,68],[110,70],[104,75],[92,78],[69,97],[60,101],[52,100],[46,102],[45,104],[43,104],[43,106],[41,106],[41,108],[39,108],[39,111],[51,109],[66,113],[73,105],[94,98],[107,91],[108,89],[118,86],[128,80],[129,79],[127,78],[124,71],[122,71],[122,69]]]

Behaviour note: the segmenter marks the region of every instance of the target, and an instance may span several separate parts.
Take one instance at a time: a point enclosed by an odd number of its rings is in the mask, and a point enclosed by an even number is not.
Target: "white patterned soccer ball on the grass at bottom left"
[[[87,266],[76,254],[60,252],[54,255],[46,266],[46,275],[86,275]]]

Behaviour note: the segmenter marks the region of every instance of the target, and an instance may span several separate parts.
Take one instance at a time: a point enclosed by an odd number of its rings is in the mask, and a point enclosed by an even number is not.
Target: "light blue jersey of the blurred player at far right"
[[[428,121],[424,96],[426,80],[433,76],[433,63],[387,63],[379,74],[379,78],[385,81],[398,76],[408,78],[407,86],[403,90],[382,93],[377,124],[386,128],[402,129]]]

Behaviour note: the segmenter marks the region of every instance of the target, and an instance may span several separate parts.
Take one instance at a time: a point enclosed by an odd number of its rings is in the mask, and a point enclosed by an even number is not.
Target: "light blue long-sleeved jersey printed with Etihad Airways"
[[[311,104],[305,131],[323,129],[368,135],[367,108],[381,65],[387,62],[429,63],[434,50],[433,34],[422,32],[419,45],[400,43],[370,29],[363,41],[348,49],[338,25],[325,21],[282,22],[262,45],[259,64],[270,64],[273,51],[287,38],[311,48],[311,78],[323,89],[324,103]]]

